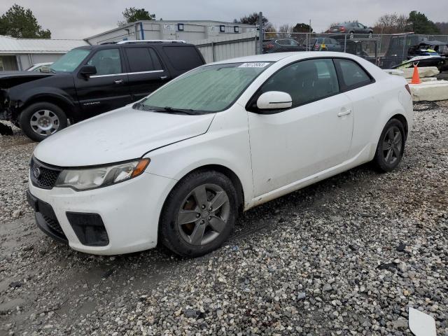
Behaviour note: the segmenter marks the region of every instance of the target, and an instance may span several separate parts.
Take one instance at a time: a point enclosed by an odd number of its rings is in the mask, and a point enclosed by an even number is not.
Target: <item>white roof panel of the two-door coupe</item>
[[[293,52],[273,52],[271,54],[251,55],[245,57],[237,57],[226,59],[210,64],[228,64],[228,63],[246,63],[246,62],[279,62],[281,59],[298,60],[304,58],[318,58],[318,57],[346,57],[355,58],[351,54],[345,52],[331,52],[331,51],[293,51]]]

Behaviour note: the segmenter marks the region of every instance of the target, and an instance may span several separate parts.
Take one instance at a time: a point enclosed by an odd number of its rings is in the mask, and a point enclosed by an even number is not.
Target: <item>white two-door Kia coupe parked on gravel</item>
[[[247,210],[373,161],[397,167],[412,127],[404,78],[339,52],[201,66],[36,147],[28,200],[48,235],[87,253],[161,243],[195,257]]]

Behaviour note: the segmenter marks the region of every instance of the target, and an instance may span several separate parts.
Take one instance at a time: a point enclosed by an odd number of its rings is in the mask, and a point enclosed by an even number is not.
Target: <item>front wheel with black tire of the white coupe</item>
[[[204,194],[200,192],[203,186]],[[201,195],[206,195],[205,202],[196,201],[204,200]],[[218,207],[223,200],[228,202]],[[214,171],[193,172],[177,183],[165,201],[159,222],[159,241],[183,257],[207,254],[221,246],[232,233],[237,209],[237,192],[227,176]],[[187,212],[192,213],[188,220],[184,217]],[[225,218],[225,221],[219,221],[219,218]],[[200,239],[195,239],[199,237],[197,232],[200,232]]]

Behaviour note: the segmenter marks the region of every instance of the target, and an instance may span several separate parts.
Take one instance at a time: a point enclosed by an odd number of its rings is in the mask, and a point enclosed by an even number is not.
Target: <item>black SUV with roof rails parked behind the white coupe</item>
[[[145,97],[204,64],[184,41],[121,41],[75,48],[44,72],[0,73],[0,120],[41,141],[99,113]]]

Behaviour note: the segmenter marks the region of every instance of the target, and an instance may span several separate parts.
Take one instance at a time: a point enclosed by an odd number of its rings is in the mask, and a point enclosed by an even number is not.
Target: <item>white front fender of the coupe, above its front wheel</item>
[[[215,155],[210,157],[204,153]],[[149,151],[144,158],[151,158],[147,172],[177,181],[200,167],[224,167],[241,183],[244,208],[248,208],[253,198],[247,114],[241,113],[239,107],[232,106],[228,111],[216,113],[206,133]]]

